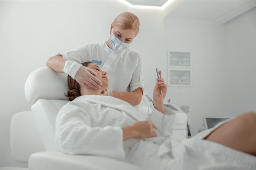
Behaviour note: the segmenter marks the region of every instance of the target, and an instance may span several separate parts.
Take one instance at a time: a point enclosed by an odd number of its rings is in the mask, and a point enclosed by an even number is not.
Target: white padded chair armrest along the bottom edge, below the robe
[[[37,152],[29,157],[29,170],[141,170],[123,161],[92,155]]]

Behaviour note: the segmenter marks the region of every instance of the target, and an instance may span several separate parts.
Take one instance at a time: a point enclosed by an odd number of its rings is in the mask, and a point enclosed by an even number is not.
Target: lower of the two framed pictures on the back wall
[[[168,86],[191,86],[191,70],[168,68]]]

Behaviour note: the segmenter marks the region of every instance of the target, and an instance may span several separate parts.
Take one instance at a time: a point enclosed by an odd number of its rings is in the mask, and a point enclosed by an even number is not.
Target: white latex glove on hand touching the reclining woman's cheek
[[[64,73],[70,75],[73,79],[86,88],[101,88],[101,81],[94,75],[97,75],[92,69],[72,61],[65,61]]]

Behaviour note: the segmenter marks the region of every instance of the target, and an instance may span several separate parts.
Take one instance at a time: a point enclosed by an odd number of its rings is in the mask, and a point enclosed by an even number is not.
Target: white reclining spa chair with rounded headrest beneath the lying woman
[[[67,75],[56,73],[48,67],[33,71],[25,84],[27,101],[32,104],[44,152],[29,157],[29,170],[141,170],[136,166],[115,159],[92,155],[68,155],[58,150],[55,143],[55,119],[68,98]]]

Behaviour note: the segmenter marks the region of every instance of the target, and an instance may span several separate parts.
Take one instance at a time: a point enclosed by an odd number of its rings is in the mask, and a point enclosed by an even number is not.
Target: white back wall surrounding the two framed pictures
[[[192,86],[169,86],[168,95],[176,106],[190,106],[191,132],[195,135],[204,115],[220,115],[220,109],[225,108],[226,29],[200,20],[166,19],[164,23],[166,49],[191,52]]]

